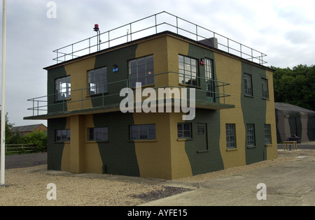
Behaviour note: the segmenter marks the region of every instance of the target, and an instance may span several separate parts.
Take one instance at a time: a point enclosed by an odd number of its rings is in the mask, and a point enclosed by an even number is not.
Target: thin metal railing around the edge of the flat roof
[[[218,49],[261,65],[267,64],[263,60],[266,54],[165,11],[54,50],[57,56],[53,60],[58,64],[162,31],[173,31],[195,41],[218,38]],[[99,42],[99,37],[102,42]]]

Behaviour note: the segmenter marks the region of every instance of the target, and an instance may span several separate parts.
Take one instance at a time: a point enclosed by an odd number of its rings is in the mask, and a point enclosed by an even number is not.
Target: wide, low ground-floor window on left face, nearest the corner
[[[155,140],[155,124],[130,126],[130,140]]]

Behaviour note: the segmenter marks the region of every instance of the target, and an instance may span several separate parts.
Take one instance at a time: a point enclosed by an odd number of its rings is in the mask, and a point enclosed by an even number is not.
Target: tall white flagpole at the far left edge
[[[2,20],[2,104],[1,104],[1,178],[0,186],[5,186],[6,158],[6,0],[3,0]]]

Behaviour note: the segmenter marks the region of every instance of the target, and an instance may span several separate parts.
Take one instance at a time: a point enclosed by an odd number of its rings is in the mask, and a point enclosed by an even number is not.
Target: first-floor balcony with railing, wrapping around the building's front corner
[[[109,82],[106,85],[108,92],[102,94],[89,95],[90,88],[86,87],[68,91],[67,98],[63,98],[62,100],[59,100],[60,94],[48,94],[48,96],[31,98],[28,101],[32,103],[32,107],[28,108],[28,110],[31,110],[32,115],[25,117],[25,119],[50,119],[78,114],[84,115],[98,112],[120,111],[120,103],[122,103],[127,96],[127,94],[120,95],[122,89],[126,91],[129,89],[129,91],[133,92],[132,95],[134,96],[130,103],[133,105],[131,108],[134,112],[136,112],[137,107],[144,105],[144,101],[148,101],[148,91],[156,95],[156,106],[158,106],[158,103],[170,102],[174,108],[178,103],[186,101],[187,106],[194,103],[195,108],[209,110],[235,108],[234,105],[226,103],[226,98],[230,96],[226,94],[226,87],[229,85],[226,82],[200,77],[191,79],[191,76],[176,72],[155,74],[153,78],[154,82],[152,85],[132,87],[131,89],[129,88],[133,83],[132,80],[129,79]],[[182,79],[181,82],[179,82],[179,79]],[[189,82],[190,80],[195,80],[195,85],[183,83]],[[141,78],[138,78],[138,81],[141,81]],[[161,94],[167,91],[168,88],[169,91],[172,91],[170,96]],[[147,95],[144,94],[144,91],[146,91]],[[179,94],[176,96],[174,91],[179,91]],[[184,91],[186,91],[186,93],[184,93]],[[140,99],[136,97],[137,92],[141,96]]]

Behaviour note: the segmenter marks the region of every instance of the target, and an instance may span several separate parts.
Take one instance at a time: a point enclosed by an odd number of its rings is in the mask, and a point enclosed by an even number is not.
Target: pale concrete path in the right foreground
[[[257,187],[260,183],[266,188]],[[200,183],[197,188],[142,206],[314,206],[315,157],[300,157],[271,167],[212,179]],[[264,189],[266,193],[262,194]],[[266,200],[258,200],[262,195]]]

